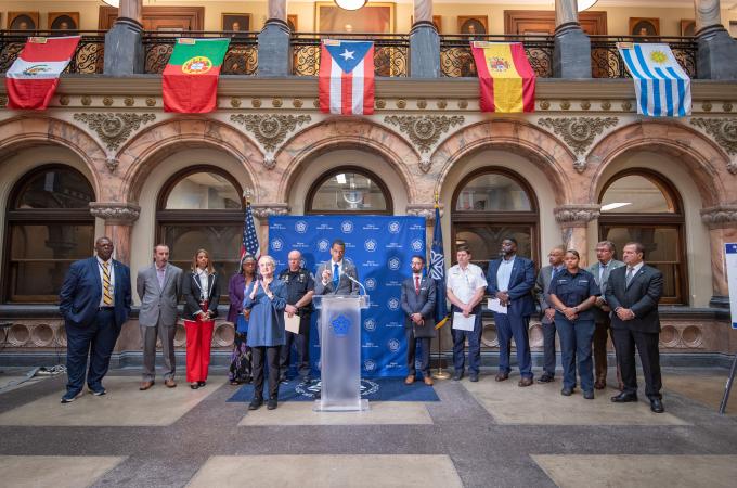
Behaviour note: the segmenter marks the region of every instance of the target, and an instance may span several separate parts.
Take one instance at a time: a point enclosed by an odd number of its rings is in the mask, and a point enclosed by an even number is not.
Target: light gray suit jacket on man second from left
[[[182,270],[167,264],[164,272],[164,287],[158,284],[156,265],[139,270],[135,279],[135,291],[141,298],[139,323],[148,328],[174,325],[177,323],[177,304],[182,295]]]

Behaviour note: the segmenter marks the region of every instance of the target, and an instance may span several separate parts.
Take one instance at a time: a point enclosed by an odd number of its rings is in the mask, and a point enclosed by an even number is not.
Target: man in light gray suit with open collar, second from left
[[[169,247],[158,244],[154,247],[154,262],[139,271],[135,290],[141,298],[139,324],[143,339],[143,372],[139,389],[154,386],[156,376],[156,338],[161,337],[164,349],[164,384],[173,388],[174,333],[177,332],[177,304],[182,294],[182,270],[169,264]]]

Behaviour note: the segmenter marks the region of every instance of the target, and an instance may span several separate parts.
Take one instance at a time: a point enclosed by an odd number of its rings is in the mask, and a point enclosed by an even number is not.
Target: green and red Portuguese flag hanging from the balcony
[[[217,106],[220,66],[230,39],[180,38],[164,68],[164,110],[204,114]]]

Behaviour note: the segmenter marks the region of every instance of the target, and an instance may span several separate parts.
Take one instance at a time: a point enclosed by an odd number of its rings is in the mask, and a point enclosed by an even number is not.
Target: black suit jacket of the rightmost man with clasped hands
[[[607,303],[611,310],[619,307],[632,309],[635,318],[620,320],[617,313],[611,314],[613,329],[629,329],[637,332],[660,332],[660,317],[658,301],[663,294],[663,273],[651,266],[644,265],[632,277],[626,286],[626,266],[622,266],[609,273],[607,283]]]

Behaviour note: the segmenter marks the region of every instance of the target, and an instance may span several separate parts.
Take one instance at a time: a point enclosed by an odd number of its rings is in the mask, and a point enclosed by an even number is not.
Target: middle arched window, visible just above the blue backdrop
[[[307,194],[307,214],[392,215],[389,190],[373,172],[344,166],[326,172]]]

